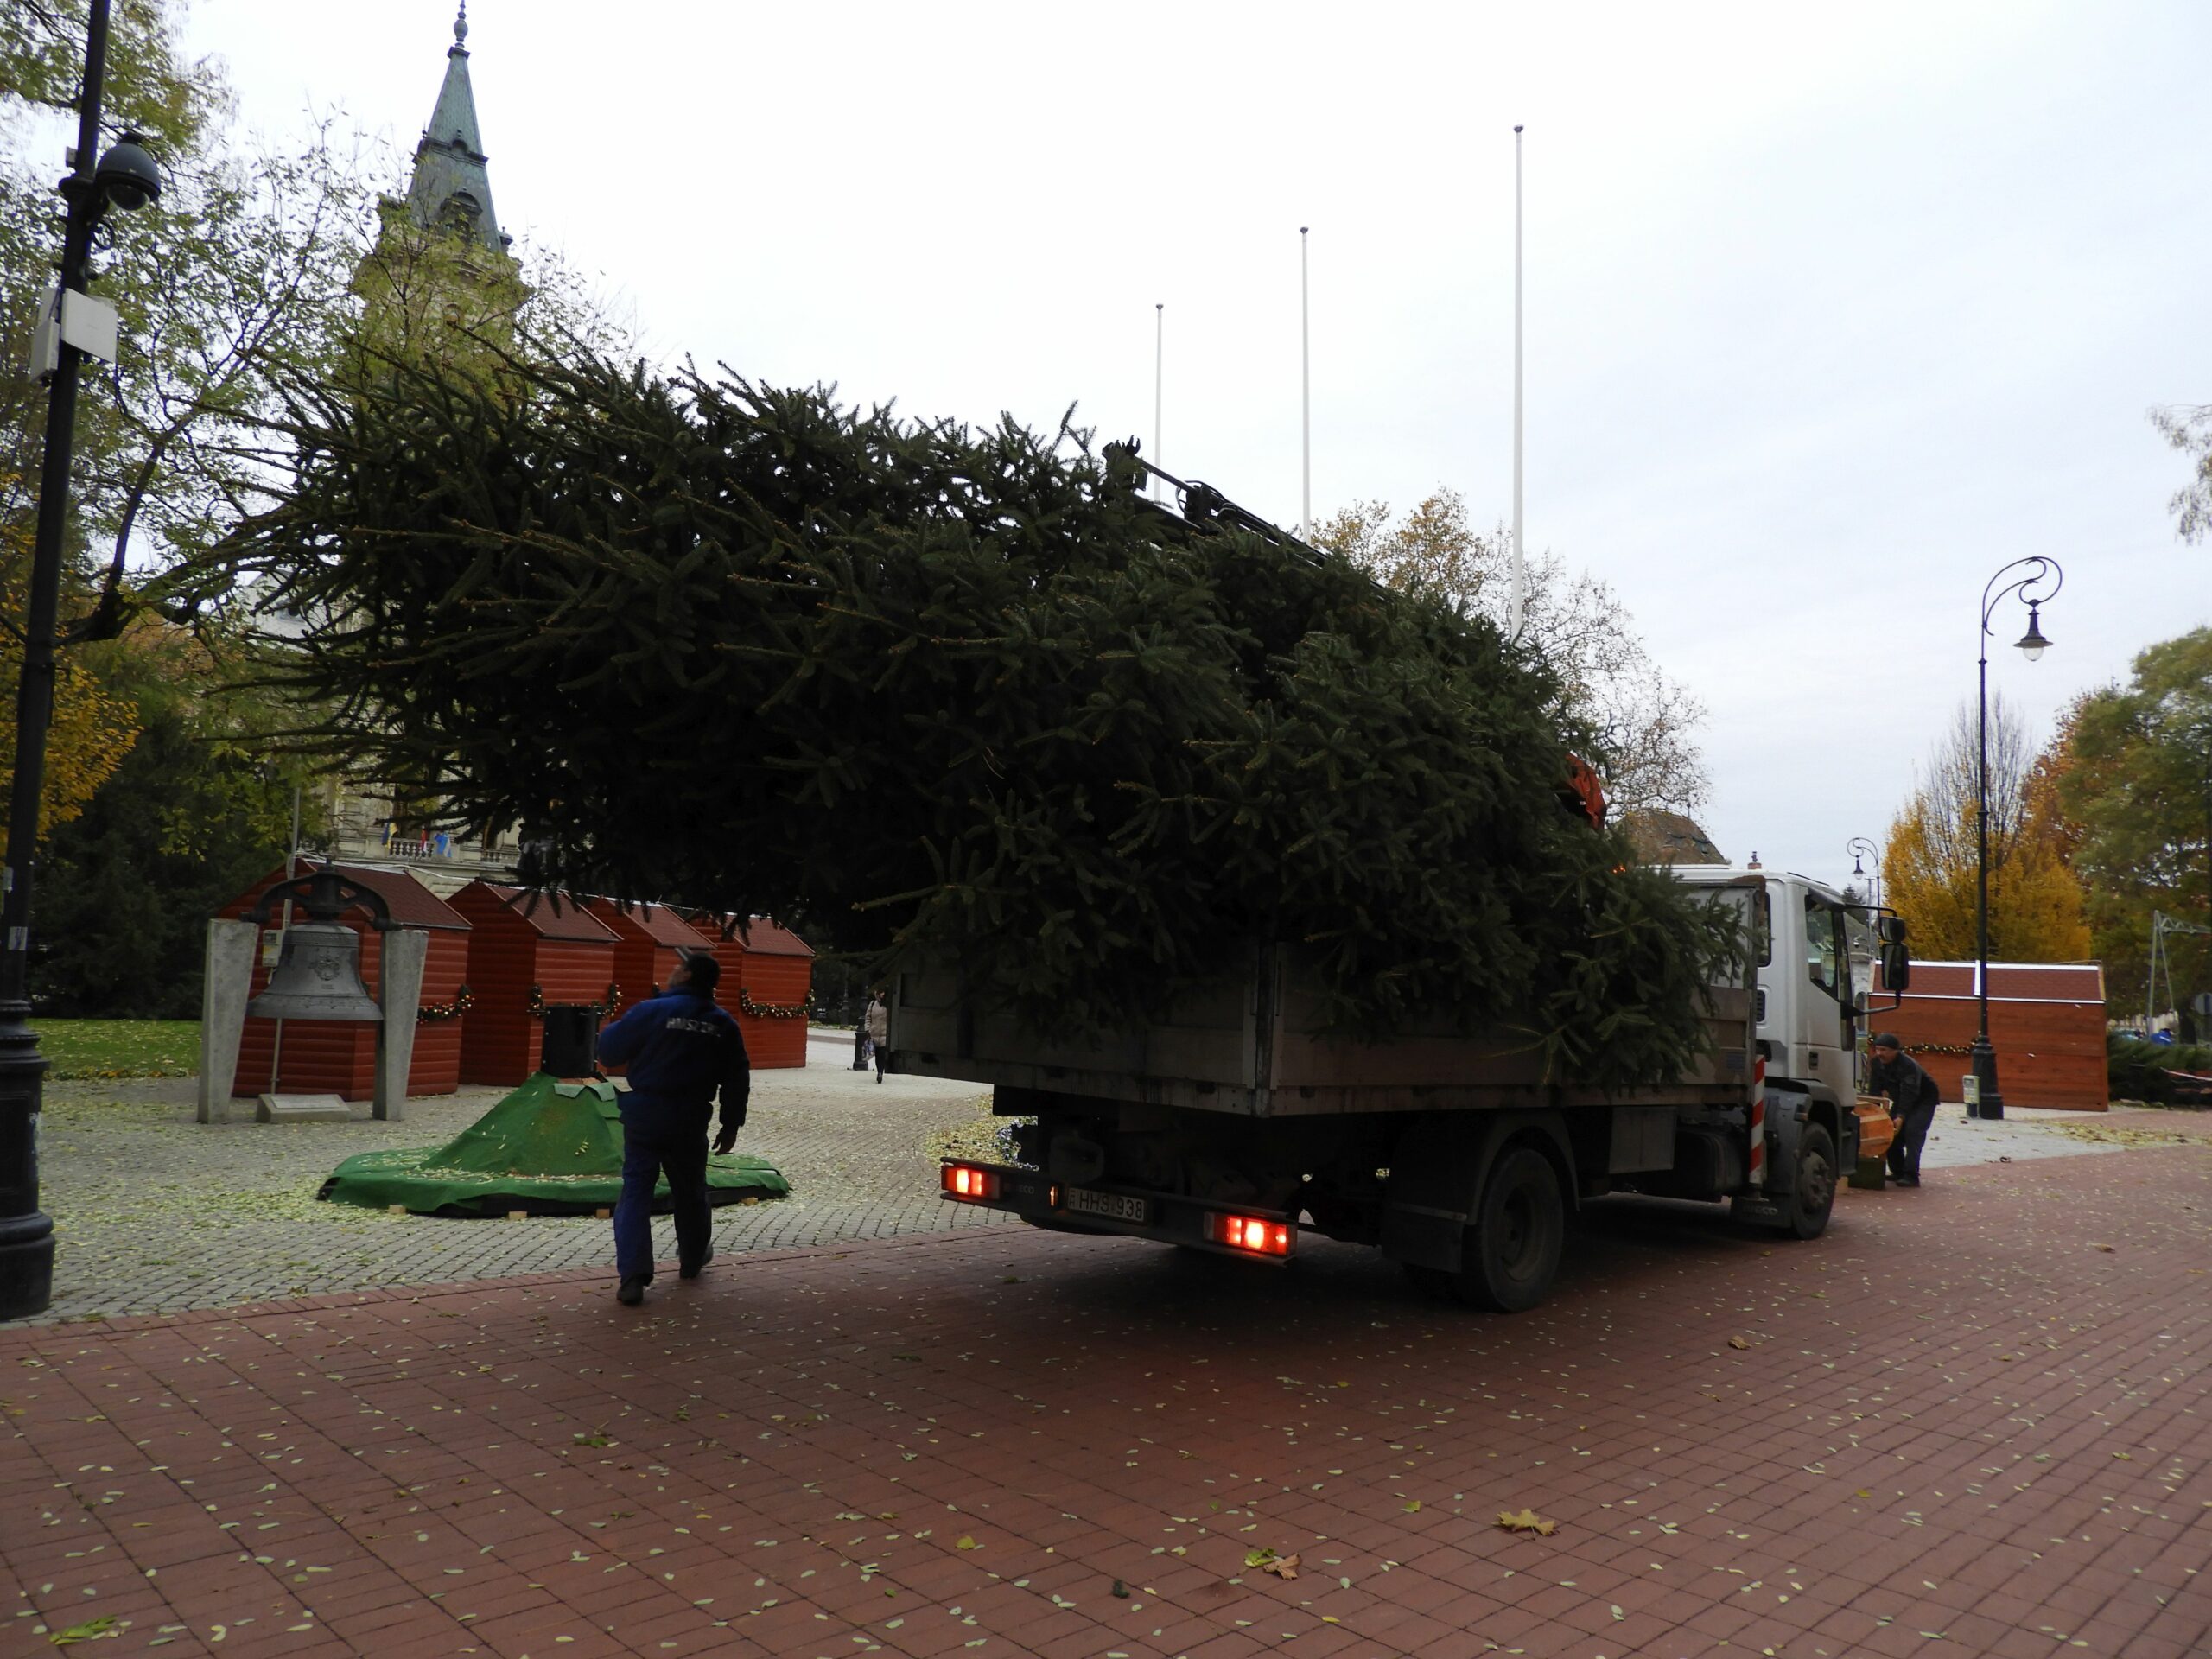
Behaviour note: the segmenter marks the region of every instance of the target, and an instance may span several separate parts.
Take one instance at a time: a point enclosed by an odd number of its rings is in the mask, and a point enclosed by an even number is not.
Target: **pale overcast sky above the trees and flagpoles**
[[[447,0],[199,0],[241,119],[411,150]],[[648,343],[909,414],[1152,434],[1298,520],[1511,507],[1526,124],[1531,546],[1604,575],[1705,701],[1732,858],[1843,876],[1973,697],[2039,730],[2212,622],[2174,540],[2212,403],[2212,7],[582,4],[476,0],[500,221]],[[392,181],[394,188],[403,179]]]

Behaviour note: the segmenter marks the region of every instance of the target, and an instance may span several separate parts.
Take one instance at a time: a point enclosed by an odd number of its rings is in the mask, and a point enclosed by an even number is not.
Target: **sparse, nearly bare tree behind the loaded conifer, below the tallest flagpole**
[[[1314,542],[1391,588],[1506,622],[1511,531],[1478,535],[1453,489],[1402,518],[1387,502],[1354,502],[1318,524]],[[1608,801],[1619,812],[1703,805],[1710,785],[1692,732],[1705,710],[1650,659],[1613,586],[1544,551],[1528,562],[1522,617],[1522,637],[1559,679],[1562,712],[1593,737]]]

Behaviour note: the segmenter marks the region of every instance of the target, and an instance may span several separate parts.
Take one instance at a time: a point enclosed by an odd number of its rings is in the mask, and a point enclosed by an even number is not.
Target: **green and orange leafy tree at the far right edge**
[[[2150,914],[2212,925],[2212,628],[2150,646],[2128,684],[2081,699],[2057,792],[2106,991],[2141,1011]],[[2212,938],[2168,949],[2183,1000],[2212,989]]]

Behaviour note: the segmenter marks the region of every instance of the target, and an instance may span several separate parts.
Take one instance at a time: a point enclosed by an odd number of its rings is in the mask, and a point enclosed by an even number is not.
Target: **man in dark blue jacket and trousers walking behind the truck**
[[[615,1301],[637,1307],[653,1283],[653,1188],[668,1172],[677,1221],[677,1272],[697,1279],[714,1254],[706,1210],[706,1126],[721,1091],[714,1150],[737,1146],[752,1097],[745,1033],[714,1006],[721,962],[692,951],[668,991],[639,1002],[599,1033],[599,1064],[628,1068],[622,1097],[622,1199],[615,1203]]]

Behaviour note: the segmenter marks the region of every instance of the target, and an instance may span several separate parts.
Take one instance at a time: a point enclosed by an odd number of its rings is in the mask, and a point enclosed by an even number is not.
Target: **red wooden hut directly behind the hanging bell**
[[[405,869],[365,869],[332,865],[347,880],[380,894],[400,927],[429,933],[422,960],[422,993],[411,1011],[416,1020],[414,1055],[407,1062],[409,1095],[451,1095],[460,1086],[460,1044],[465,1015],[456,1006],[469,978],[469,922],[451,905]],[[254,880],[223,905],[226,918],[246,920],[261,894],[285,878],[283,865]],[[279,920],[270,918],[263,949],[254,953],[252,995],[268,987],[276,967]],[[299,914],[294,911],[294,918]],[[383,940],[367,911],[349,909],[338,918],[361,933],[361,982],[376,995],[376,973]],[[387,1011],[389,1018],[389,1011]],[[248,1020],[239,1037],[239,1071],[232,1097],[257,1095],[338,1095],[372,1099],[376,1095],[376,1026],[361,1020],[285,1020],[279,1051],[276,1020]],[[276,1079],[270,1082],[270,1062]]]

